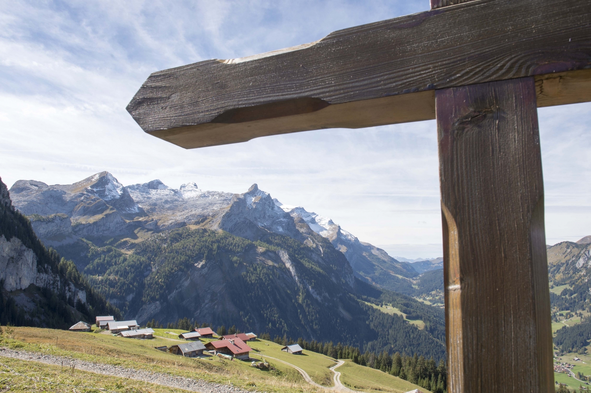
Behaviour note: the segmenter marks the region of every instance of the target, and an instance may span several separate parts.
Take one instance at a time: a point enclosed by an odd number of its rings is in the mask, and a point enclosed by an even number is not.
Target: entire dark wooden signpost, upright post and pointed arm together
[[[184,148],[437,119],[449,392],[554,392],[537,107],[591,101],[591,0],[431,0],[298,47],[151,74]]]

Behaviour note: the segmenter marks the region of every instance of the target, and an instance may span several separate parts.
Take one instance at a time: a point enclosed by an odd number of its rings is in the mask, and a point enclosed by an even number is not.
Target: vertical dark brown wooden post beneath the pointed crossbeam
[[[436,91],[448,388],[554,392],[533,77]]]

